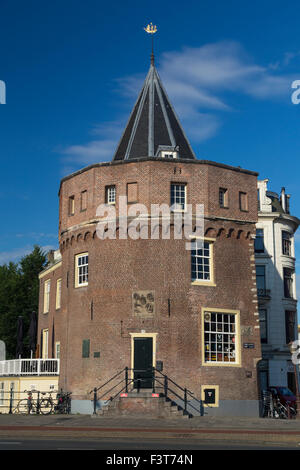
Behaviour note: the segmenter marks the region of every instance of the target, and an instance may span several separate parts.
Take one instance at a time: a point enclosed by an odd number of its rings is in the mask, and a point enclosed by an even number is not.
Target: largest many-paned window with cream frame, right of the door
[[[206,364],[239,363],[238,312],[203,310],[204,357]]]

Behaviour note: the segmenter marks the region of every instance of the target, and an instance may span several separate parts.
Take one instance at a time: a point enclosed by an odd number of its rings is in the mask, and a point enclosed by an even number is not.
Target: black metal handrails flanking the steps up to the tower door
[[[133,378],[129,378],[129,372],[133,372]],[[120,381],[118,381],[118,383],[113,385],[109,390],[106,390],[100,397],[97,396],[97,392],[99,390],[103,389],[106,385],[108,385],[110,382],[115,380],[122,373],[125,373],[124,377]],[[143,378],[141,376],[136,377],[136,374],[139,374],[139,373],[150,373],[150,376],[146,378]],[[159,377],[157,377],[156,373],[159,374]],[[95,387],[93,390],[91,390],[90,393],[94,392],[94,398],[93,398],[94,414],[96,414],[97,401],[101,400],[105,395],[107,396],[112,390],[116,389],[116,387],[118,387],[121,383],[125,382],[125,385],[120,390],[118,390],[118,392],[114,396],[111,396],[107,400],[107,402],[115,400],[115,398],[117,398],[122,392],[128,393],[128,388],[131,384],[136,385],[137,392],[139,392],[142,382],[149,382],[149,380],[152,381],[153,393],[155,393],[156,389],[162,389],[162,392],[160,392],[160,395],[164,396],[166,399],[169,399],[169,400],[172,400],[172,398],[170,398],[170,395],[173,397],[174,396],[177,397],[183,403],[183,407],[178,404],[177,406],[183,409],[185,413],[188,413],[188,407],[190,407],[190,408],[193,408],[195,411],[197,411],[197,413],[200,413],[201,416],[203,416],[204,414],[203,400],[198,400],[197,398],[195,398],[192,391],[188,390],[186,387],[181,387],[181,385],[177,384],[173,379],[168,377],[166,374],[163,374],[160,370],[156,369],[155,367],[152,367],[150,369],[131,369],[129,367],[125,367],[124,369],[119,371],[117,374],[115,374],[113,377],[111,377],[109,380],[107,380],[103,385],[100,385],[99,387]],[[172,388],[170,387],[170,383],[172,384]],[[174,390],[174,386],[176,390]],[[192,400],[194,400],[196,404],[198,404],[198,408],[191,403],[189,398],[192,398]]]

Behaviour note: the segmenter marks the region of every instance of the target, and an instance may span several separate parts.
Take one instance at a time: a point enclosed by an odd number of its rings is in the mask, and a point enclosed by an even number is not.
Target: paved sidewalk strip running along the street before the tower
[[[0,415],[0,437],[234,440],[299,445],[300,421],[194,417],[151,419],[93,415]]]

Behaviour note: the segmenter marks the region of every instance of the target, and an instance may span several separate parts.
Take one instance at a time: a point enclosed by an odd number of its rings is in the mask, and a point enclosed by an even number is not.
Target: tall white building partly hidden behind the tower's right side
[[[294,234],[300,220],[290,214],[290,196],[258,182],[255,240],[256,282],[262,342],[260,388],[295,389],[288,343],[298,338]]]

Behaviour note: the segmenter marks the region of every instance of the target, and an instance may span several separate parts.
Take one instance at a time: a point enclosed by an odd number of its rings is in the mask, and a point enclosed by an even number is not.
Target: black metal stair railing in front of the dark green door
[[[129,377],[130,372],[133,378]],[[148,376],[143,377],[143,374],[148,374]],[[96,414],[97,402],[99,400],[106,398],[106,403],[113,401],[122,393],[127,394],[130,387],[132,387],[132,390],[136,389],[137,393],[139,393],[141,388],[143,388],[143,382],[151,382],[152,393],[158,393],[159,396],[164,397],[166,400],[173,401],[179,409],[183,410],[184,414],[192,415],[193,412],[196,412],[200,416],[204,415],[203,400],[195,398],[193,392],[188,390],[186,387],[181,387],[174,380],[157,370],[155,367],[147,370],[130,369],[125,367],[108,379],[104,384],[91,390],[90,394],[93,393],[92,401],[94,403],[94,414]],[[100,390],[101,394],[99,396],[98,392]],[[112,392],[113,394],[107,398]]]

